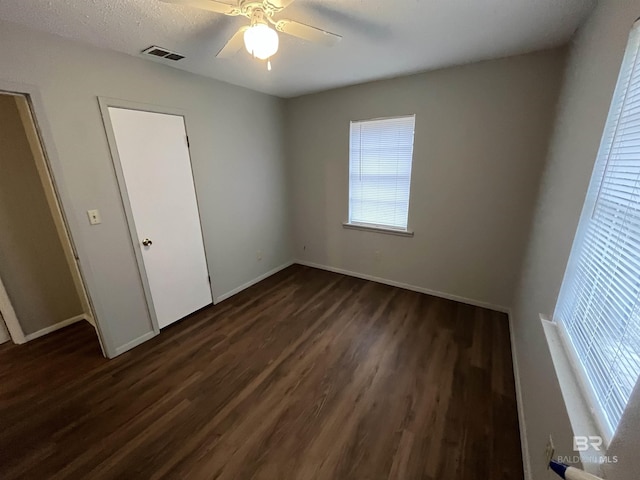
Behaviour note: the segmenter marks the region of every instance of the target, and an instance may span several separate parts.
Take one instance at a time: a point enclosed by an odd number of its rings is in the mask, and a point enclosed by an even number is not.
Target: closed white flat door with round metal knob
[[[212,302],[184,118],[109,107],[160,328]]]

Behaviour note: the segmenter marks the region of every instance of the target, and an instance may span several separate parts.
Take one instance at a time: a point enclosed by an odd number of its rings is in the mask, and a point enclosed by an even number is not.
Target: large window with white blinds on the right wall
[[[609,437],[640,375],[639,47],[635,26],[554,314]]]

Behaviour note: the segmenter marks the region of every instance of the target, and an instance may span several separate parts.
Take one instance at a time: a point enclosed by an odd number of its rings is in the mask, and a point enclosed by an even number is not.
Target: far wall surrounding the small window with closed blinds
[[[564,59],[551,50],[288,100],[296,258],[510,306]],[[343,229],[349,121],[411,113],[415,236]]]

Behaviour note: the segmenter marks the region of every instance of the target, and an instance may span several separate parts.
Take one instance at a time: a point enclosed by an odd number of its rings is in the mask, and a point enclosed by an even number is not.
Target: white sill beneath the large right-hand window
[[[560,384],[562,398],[567,408],[573,434],[586,437],[598,436],[603,439],[602,451],[590,445],[589,450],[574,453],[580,456],[583,464],[582,468],[585,471],[594,475],[602,475],[600,463],[597,459],[600,459],[605,454],[611,439],[598,425],[596,414],[592,410],[587,400],[588,396],[580,383],[578,366],[574,364],[571,352],[567,351],[570,347],[562,338],[559,325],[544,315],[540,315],[540,321],[547,339],[551,360]]]

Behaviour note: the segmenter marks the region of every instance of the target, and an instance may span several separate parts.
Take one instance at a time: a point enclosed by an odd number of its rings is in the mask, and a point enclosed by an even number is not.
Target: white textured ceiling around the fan
[[[232,0],[226,0],[233,3]],[[216,59],[248,23],[157,0],[3,0],[0,19],[139,55],[159,45],[190,72],[282,97],[565,43],[595,0],[296,0],[291,18],[344,38],[327,48],[280,34],[268,72],[244,50]]]

